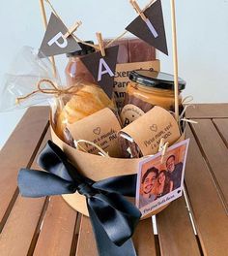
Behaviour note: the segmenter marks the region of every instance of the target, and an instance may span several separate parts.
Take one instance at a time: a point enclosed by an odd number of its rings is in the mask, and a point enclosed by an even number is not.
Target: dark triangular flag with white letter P
[[[65,24],[52,13],[38,56],[43,58],[80,50],[80,46],[71,35],[68,38],[64,37],[67,32]]]

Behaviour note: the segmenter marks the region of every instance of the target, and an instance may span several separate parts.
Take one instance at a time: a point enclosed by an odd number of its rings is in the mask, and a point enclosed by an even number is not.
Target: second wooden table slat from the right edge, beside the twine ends
[[[221,190],[221,199],[224,198],[225,208],[228,204],[228,150],[221,137],[214,127],[211,120],[198,120],[198,124],[192,125],[198,142],[200,143],[204,154],[213,173],[214,181]],[[214,149],[215,148],[215,149]]]

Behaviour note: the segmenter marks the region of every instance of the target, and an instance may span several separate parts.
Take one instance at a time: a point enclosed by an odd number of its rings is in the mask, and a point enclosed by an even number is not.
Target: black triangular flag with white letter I
[[[164,20],[160,0],[144,12],[147,21],[137,16],[126,28],[130,33],[168,55]]]

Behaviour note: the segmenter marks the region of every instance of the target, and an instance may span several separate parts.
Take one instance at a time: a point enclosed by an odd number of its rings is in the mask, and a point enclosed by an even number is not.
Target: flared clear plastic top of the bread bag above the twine
[[[38,83],[43,79],[51,80],[61,86],[58,74],[56,77],[53,75],[48,58],[39,58],[38,51],[34,48],[21,48],[0,86],[0,112],[27,108],[50,99],[53,100],[52,94],[38,91]],[[50,84],[43,82],[42,88],[50,89]],[[31,95],[26,100],[19,100],[20,97],[29,94]]]

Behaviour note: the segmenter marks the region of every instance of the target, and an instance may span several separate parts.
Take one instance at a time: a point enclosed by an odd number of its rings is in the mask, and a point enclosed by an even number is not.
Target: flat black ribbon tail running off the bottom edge
[[[137,256],[131,239],[127,240],[121,246],[117,246],[108,238],[94,210],[88,204],[87,207],[100,256]]]

